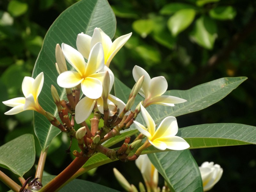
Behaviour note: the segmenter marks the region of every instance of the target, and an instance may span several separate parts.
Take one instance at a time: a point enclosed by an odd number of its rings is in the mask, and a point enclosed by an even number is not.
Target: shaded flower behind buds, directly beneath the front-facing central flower
[[[114,74],[107,66],[105,66],[104,69],[108,70],[108,73],[109,73],[109,76],[110,76],[110,85],[109,85],[109,92],[110,92],[111,89],[112,89],[112,86],[114,84]],[[76,109],[75,109],[76,123],[78,123],[78,124],[82,123],[83,121],[85,121],[90,116],[96,101],[97,101],[97,107],[98,107],[100,113],[104,114],[102,96],[100,96],[97,99],[91,99],[89,97],[84,97],[76,105]],[[109,116],[113,116],[116,113],[116,111],[117,111],[116,105],[117,105],[117,108],[119,108],[120,111],[124,110],[125,103],[122,100],[115,97],[114,95],[108,94]],[[126,115],[128,115],[129,113],[130,112],[127,112]]]

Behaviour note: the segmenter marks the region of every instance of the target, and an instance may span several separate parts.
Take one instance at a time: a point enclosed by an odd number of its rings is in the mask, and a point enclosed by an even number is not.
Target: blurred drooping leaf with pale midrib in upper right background
[[[206,49],[212,49],[217,38],[217,25],[208,16],[201,16],[191,32],[191,38]]]

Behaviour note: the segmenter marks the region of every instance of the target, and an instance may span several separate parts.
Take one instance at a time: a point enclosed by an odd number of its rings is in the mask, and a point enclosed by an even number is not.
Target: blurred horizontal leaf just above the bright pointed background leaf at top
[[[182,9],[197,9],[196,6],[186,4],[186,3],[170,3],[167,5],[164,5],[164,7],[160,10],[160,14],[162,15],[171,15],[175,12],[178,12]]]

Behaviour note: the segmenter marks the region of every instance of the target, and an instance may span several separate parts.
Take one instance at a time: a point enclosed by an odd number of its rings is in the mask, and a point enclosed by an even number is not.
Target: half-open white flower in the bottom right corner
[[[223,169],[218,164],[213,162],[204,162],[199,167],[203,180],[204,191],[210,190],[221,178]]]

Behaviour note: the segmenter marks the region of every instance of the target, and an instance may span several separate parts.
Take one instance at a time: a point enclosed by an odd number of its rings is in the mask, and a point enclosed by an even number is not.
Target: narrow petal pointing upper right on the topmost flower
[[[116,55],[116,53],[124,46],[126,41],[131,37],[132,33],[118,37],[111,45],[108,54],[105,55],[105,65],[109,67],[110,61]]]

